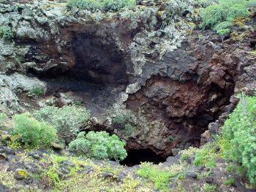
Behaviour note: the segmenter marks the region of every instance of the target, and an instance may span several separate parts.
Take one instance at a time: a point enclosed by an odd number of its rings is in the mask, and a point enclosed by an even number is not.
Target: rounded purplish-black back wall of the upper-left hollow
[[[127,85],[125,53],[113,42],[92,34],[74,34],[72,77],[97,85]]]

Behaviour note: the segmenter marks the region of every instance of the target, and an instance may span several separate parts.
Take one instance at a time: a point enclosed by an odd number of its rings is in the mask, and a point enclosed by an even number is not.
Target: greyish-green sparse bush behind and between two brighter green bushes
[[[74,139],[80,128],[88,125],[90,113],[88,110],[75,105],[58,107],[43,107],[34,112],[37,120],[44,120],[58,131],[59,136],[66,142]]]

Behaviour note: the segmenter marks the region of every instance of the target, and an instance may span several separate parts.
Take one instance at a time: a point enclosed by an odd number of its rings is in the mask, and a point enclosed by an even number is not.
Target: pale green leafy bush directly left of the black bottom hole
[[[70,142],[69,150],[89,158],[120,161],[127,157],[124,146],[125,143],[121,142],[115,134],[109,136],[106,131],[89,131],[88,134],[80,132],[78,137]]]

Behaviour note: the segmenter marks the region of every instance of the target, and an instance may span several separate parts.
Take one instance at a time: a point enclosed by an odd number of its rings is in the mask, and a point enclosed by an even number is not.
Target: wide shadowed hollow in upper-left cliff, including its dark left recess
[[[89,32],[69,31],[69,45],[62,55],[56,45],[40,47],[34,45],[26,54],[25,61],[34,61],[28,74],[36,77],[54,79],[62,76],[94,85],[118,87],[127,85],[127,53],[111,38],[98,37]],[[34,55],[41,54],[39,59]]]

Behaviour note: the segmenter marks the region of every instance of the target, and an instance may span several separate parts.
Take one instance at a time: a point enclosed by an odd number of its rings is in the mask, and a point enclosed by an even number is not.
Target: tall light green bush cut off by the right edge
[[[239,97],[222,127],[221,148],[224,158],[241,165],[249,182],[256,186],[256,96]]]

